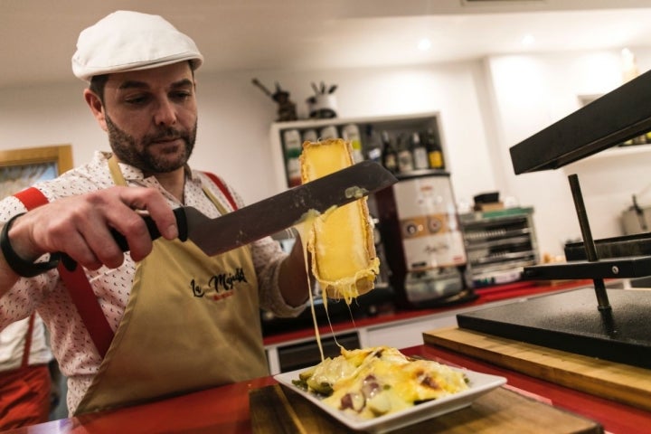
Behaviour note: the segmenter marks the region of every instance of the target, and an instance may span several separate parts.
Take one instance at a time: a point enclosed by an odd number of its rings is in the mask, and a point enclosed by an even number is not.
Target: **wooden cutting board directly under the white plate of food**
[[[348,429],[297,392],[292,392],[279,384],[252,390],[249,398],[254,433],[358,432]],[[568,434],[603,433],[603,428],[592,420],[500,387],[482,395],[465,409],[392,432],[396,434],[504,434],[505,432]]]

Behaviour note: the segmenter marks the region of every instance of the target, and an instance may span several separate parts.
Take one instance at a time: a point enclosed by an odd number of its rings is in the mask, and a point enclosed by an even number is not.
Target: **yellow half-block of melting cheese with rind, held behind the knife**
[[[352,155],[350,143],[340,138],[305,142],[300,156],[302,182],[353,165]],[[373,289],[380,259],[366,197],[317,216],[308,233],[312,272],[324,296],[350,304]]]

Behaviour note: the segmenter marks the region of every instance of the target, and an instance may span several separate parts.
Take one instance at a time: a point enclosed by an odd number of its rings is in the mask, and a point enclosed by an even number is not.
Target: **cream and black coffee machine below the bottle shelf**
[[[475,296],[450,176],[442,171],[398,175],[375,194],[390,281],[399,307],[437,307]]]

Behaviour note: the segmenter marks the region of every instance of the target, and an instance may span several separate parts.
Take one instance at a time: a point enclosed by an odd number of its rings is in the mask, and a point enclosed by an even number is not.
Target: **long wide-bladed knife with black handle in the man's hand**
[[[382,165],[363,161],[214,219],[190,206],[176,208],[179,239],[191,240],[204,253],[214,256],[284,231],[305,219],[310,210],[325,212],[396,182],[396,177]],[[156,223],[151,217],[143,218],[152,240],[159,238]],[[122,250],[129,250],[121,233],[112,234]],[[76,267],[67,255],[61,255],[61,260],[68,269]]]

